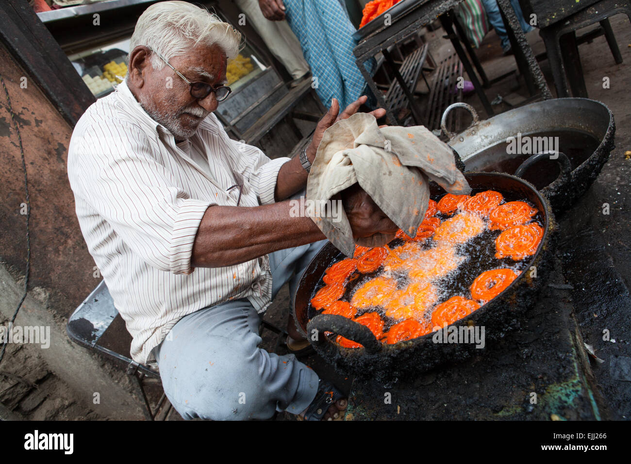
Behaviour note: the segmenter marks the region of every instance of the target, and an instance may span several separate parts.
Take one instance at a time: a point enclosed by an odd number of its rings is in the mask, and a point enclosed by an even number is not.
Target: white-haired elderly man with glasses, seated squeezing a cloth
[[[259,348],[259,318],[282,285],[295,289],[324,239],[283,200],[304,189],[324,130],[365,97],[339,116],[333,102],[302,160],[270,160],[228,138],[213,114],[239,44],[230,25],[186,2],[141,15],[126,80],[74,129],[76,212],[133,359],[156,360],[183,417],[331,419],[344,401],[324,407],[330,384],[294,355]],[[357,237],[397,229],[362,191],[344,201]]]

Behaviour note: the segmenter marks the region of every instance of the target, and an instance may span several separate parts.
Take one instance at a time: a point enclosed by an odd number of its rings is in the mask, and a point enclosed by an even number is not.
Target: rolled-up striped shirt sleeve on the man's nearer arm
[[[148,265],[190,273],[199,223],[214,203],[190,198],[131,124],[86,128],[73,145],[68,174],[75,195]]]

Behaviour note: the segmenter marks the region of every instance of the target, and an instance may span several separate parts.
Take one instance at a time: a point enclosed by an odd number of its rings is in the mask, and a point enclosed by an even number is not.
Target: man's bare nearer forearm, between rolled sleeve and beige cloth
[[[195,237],[191,266],[232,266],[325,238],[310,218],[291,217],[290,208],[289,201],[254,208],[209,206]]]

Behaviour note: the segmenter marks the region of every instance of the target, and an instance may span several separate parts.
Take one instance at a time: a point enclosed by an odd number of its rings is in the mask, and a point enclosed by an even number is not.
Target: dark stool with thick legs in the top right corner
[[[631,21],[631,0],[600,0],[557,23],[541,28],[540,35],[546,45],[558,98],[570,96],[567,81],[574,97],[587,98],[575,30],[600,23],[616,63],[622,63],[618,44],[607,20],[618,13],[625,13]]]

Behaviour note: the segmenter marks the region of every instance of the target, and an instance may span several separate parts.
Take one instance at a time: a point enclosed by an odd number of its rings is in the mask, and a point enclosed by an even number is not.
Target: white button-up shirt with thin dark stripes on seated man
[[[175,145],[123,82],[86,110],[68,148],[81,232],[133,336],[131,356],[143,364],[191,312],[238,298],[262,312],[271,302],[268,256],[191,271],[191,253],[208,206],[236,206],[235,184],[244,186],[240,206],[274,203],[278,171],[289,158],[270,160],[231,140],[214,114],[191,142],[207,167]]]

